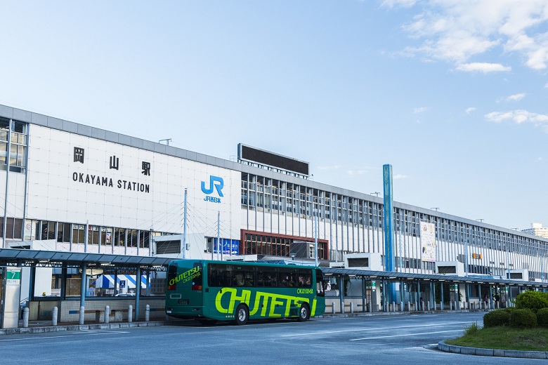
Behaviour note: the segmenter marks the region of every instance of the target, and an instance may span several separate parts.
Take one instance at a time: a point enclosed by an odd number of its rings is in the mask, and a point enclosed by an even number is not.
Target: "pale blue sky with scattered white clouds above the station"
[[[548,0],[0,3],[0,104],[548,225]]]

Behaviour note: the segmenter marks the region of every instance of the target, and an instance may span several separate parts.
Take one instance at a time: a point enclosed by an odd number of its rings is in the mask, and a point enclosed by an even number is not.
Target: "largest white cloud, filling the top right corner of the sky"
[[[495,57],[514,53],[531,69],[548,67],[546,0],[385,0],[382,4],[416,5],[418,12],[403,29],[419,45],[406,48],[407,53],[457,65],[488,51]],[[500,70],[509,68],[498,65],[489,72]]]

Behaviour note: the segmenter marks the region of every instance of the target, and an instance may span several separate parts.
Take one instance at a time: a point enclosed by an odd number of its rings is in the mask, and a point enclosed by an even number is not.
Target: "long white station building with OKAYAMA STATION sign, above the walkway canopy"
[[[0,105],[1,247],[310,260],[317,239],[322,266],[386,271],[381,197],[238,149],[229,161]],[[393,214],[397,272],[547,279],[548,239],[397,201]]]

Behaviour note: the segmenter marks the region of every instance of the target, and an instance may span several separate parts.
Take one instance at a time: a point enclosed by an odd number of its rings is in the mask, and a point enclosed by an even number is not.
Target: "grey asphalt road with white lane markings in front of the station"
[[[540,364],[450,354],[440,340],[459,336],[483,313],[327,317],[245,326],[159,326],[0,337],[0,364]]]

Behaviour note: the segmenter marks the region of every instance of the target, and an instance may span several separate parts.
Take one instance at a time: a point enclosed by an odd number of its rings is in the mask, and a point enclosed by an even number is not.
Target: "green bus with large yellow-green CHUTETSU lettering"
[[[174,260],[167,270],[166,314],[202,323],[296,318],[325,312],[319,267]]]

